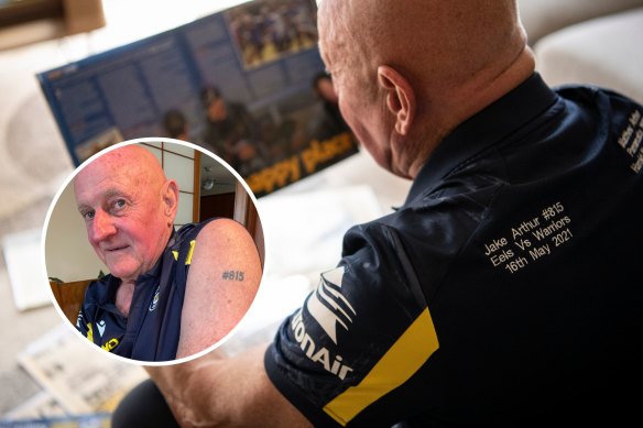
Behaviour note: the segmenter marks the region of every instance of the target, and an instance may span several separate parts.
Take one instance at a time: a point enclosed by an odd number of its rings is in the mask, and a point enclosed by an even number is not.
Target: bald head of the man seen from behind
[[[404,177],[534,69],[514,0],[322,0],[318,26],[342,116]]]

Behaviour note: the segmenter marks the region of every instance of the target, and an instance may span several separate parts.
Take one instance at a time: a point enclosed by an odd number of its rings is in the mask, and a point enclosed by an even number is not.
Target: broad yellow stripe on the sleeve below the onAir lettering
[[[346,426],[360,411],[406,382],[439,348],[428,308],[413,321],[369,374],[324,407],[333,419]]]

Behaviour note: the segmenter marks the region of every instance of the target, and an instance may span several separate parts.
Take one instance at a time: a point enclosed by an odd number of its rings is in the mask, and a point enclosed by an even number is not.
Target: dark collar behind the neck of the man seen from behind
[[[405,204],[426,194],[427,188],[433,188],[467,160],[534,120],[556,99],[556,92],[534,73],[502,98],[460,123],[431,154],[413,180]]]

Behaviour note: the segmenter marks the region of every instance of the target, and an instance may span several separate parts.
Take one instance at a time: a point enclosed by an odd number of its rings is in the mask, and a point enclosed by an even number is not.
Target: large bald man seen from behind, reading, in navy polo
[[[149,370],[178,421],[618,426],[635,414],[643,108],[548,88],[512,0],[322,0],[318,25],[347,123],[413,186],[346,234],[339,266],[268,349]]]

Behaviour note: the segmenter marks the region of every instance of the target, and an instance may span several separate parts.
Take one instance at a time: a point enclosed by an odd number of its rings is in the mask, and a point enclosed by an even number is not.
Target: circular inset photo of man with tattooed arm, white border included
[[[43,233],[59,314],[129,361],[208,352],[261,282],[254,196],[220,158],[177,140],[132,140],[90,157],[56,195]]]

